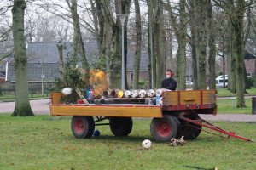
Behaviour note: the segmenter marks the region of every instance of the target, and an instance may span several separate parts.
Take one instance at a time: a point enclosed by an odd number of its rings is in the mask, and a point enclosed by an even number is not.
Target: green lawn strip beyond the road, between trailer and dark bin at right
[[[245,99],[246,108],[232,107],[231,99],[217,99],[218,110],[217,113],[234,113],[234,114],[251,114],[252,113],[252,99]]]

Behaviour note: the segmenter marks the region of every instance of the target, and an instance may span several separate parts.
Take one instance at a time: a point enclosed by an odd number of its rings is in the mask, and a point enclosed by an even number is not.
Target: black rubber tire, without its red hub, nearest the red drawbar
[[[167,123],[171,127],[171,133],[167,136],[161,136],[157,128],[160,126],[160,123]],[[156,142],[166,143],[170,142],[172,138],[175,138],[177,135],[178,122],[175,116],[164,115],[163,119],[154,118],[150,125],[150,132]]]

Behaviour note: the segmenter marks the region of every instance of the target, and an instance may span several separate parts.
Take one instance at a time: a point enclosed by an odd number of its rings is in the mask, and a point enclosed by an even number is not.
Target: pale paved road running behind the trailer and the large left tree
[[[32,111],[35,114],[49,115],[50,99],[30,100]],[[15,109],[15,102],[0,102],[0,113],[12,113]],[[256,115],[248,114],[217,114],[201,115],[201,118],[207,121],[227,121],[227,122],[253,122],[256,123]]]

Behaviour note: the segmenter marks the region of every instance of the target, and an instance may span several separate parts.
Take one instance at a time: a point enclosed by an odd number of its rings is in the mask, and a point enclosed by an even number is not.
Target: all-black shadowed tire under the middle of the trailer
[[[115,136],[127,136],[131,133],[132,118],[131,117],[110,117],[110,130]]]

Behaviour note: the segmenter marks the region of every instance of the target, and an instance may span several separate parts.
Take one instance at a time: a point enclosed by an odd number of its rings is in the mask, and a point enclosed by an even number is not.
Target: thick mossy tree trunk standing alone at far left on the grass
[[[15,0],[13,14],[13,38],[15,48],[15,111],[12,116],[34,116],[29,103],[26,43],[24,36],[25,0]]]

